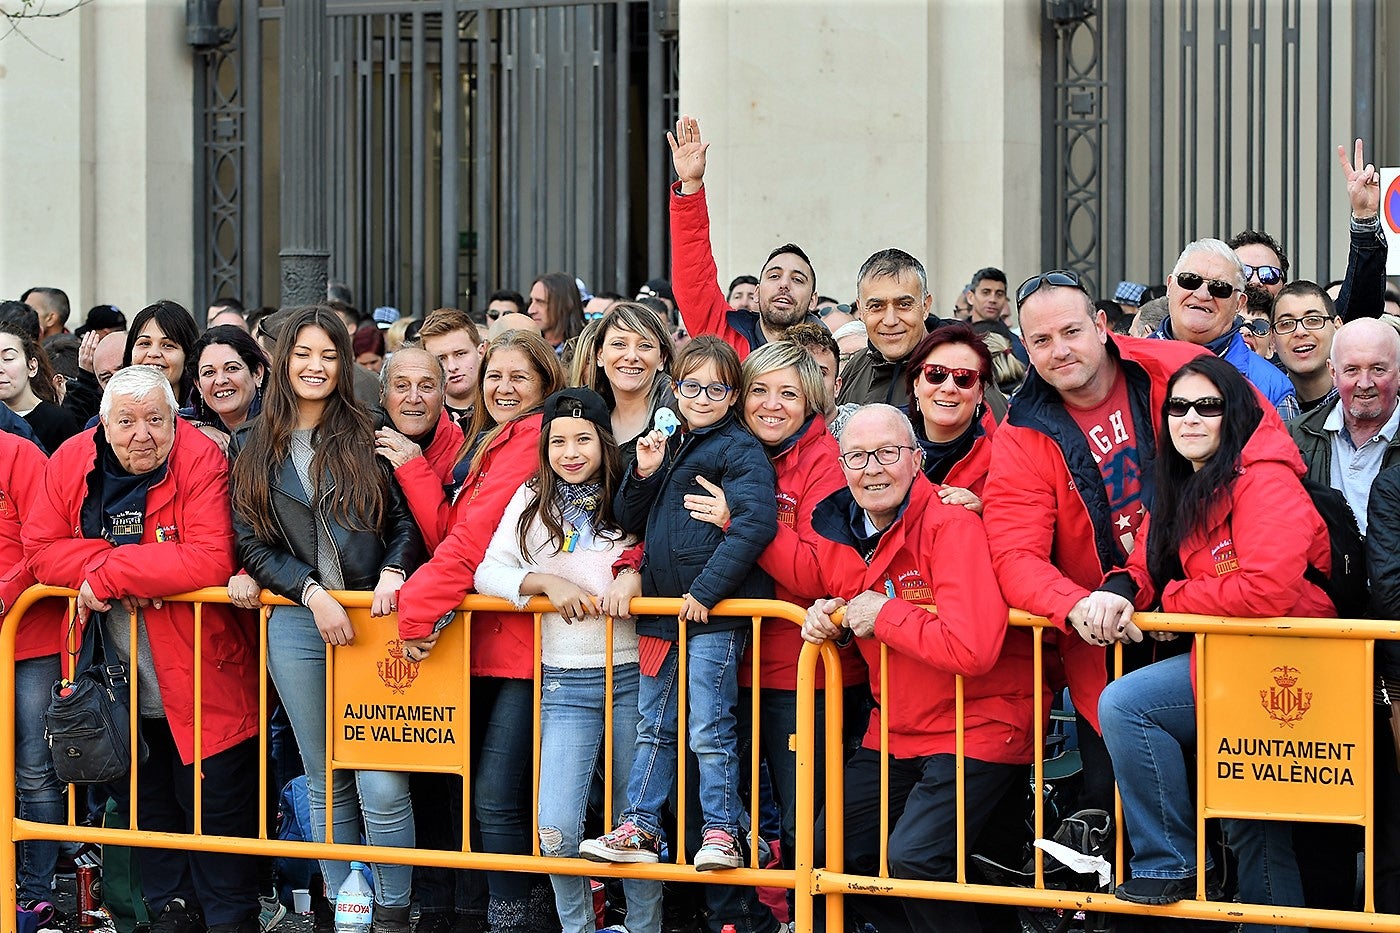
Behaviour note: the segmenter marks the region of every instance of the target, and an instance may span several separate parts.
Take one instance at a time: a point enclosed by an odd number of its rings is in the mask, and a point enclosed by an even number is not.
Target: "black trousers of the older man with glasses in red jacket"
[[[889,759],[889,873],[896,878],[952,881],[958,871],[958,790],[953,755]],[[1007,792],[1025,778],[1022,765],[966,758],[969,852]],[[846,765],[846,870],[879,873],[879,752],[861,748]],[[816,824],[816,857],[826,852],[826,814]],[[977,933],[974,904],[921,898],[848,897],[881,933]],[[818,904],[820,913],[820,901]],[[818,922],[823,929],[825,919]]]

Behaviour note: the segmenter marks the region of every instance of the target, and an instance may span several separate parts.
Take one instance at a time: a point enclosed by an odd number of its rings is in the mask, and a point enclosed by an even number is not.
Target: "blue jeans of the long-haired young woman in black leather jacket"
[[[280,605],[267,619],[267,668],[281,705],[291,720],[291,731],[307,768],[307,796],[311,800],[311,836],[326,841],[326,643],[316,630],[309,609]],[[364,835],[372,846],[414,846],[413,806],[409,800],[409,775],[391,770],[337,770],[333,776],[335,841],[360,842],[361,817]],[[407,906],[413,867],[405,864],[371,866],[375,901],[384,906]],[[321,862],[328,897],[350,874],[347,862]]]

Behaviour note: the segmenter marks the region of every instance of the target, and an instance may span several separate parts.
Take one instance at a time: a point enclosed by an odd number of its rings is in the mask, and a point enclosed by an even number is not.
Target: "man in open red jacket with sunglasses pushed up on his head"
[[[1079,719],[1085,786],[1079,807],[1113,810],[1113,766],[1099,735],[1110,642],[1142,642],[1119,626],[1095,588],[1127,565],[1151,507],[1156,422],[1166,381],[1204,353],[1179,340],[1109,336],[1072,272],[1047,272],[1016,291],[1032,371],[991,443],[983,521],[1011,605],[1054,622]],[[1183,643],[1184,644],[1184,643]],[[1127,658],[1141,667],[1155,642]],[[1170,649],[1177,653],[1177,649]]]

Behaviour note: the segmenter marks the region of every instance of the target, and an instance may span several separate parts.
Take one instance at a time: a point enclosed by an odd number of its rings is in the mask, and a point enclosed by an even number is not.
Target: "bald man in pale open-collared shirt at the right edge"
[[[1383,321],[1358,318],[1331,339],[1327,370],[1337,399],[1295,419],[1288,430],[1308,464],[1308,476],[1341,492],[1361,534],[1376,474],[1400,464],[1400,333]]]

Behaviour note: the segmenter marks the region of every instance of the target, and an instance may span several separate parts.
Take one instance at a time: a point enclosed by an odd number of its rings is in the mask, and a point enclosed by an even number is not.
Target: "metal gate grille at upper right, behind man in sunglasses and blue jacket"
[[[1345,268],[1334,148],[1375,151],[1373,0],[1050,0],[1042,244],[1109,291],[1200,237],[1274,235],[1295,277]]]

